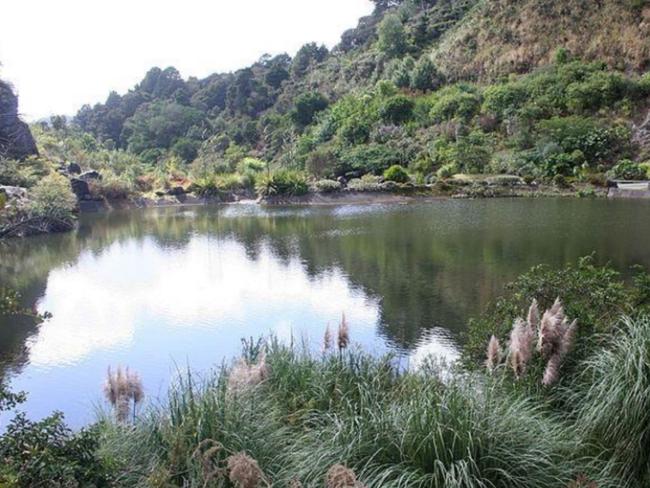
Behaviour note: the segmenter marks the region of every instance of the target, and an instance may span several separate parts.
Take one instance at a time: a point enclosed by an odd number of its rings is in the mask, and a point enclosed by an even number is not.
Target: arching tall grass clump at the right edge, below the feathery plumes
[[[625,318],[582,364],[569,392],[575,424],[595,455],[632,486],[650,485],[650,317]],[[621,483],[622,484],[622,483]]]

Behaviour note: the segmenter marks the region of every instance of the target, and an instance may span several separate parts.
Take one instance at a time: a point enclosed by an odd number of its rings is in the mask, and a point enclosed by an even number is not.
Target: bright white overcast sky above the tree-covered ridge
[[[27,120],[74,115],[153,66],[202,78],[306,42],[332,47],[371,11],[370,0],[11,0],[0,78]]]

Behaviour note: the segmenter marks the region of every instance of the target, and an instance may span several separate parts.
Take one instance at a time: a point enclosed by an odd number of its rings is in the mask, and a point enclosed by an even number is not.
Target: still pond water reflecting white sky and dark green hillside
[[[84,215],[73,233],[0,245],[0,286],[52,314],[0,319],[0,372],[31,417],[61,410],[80,426],[109,365],[156,398],[244,337],[316,349],[342,313],[367,350],[453,358],[468,317],[532,265],[594,251],[621,271],[650,265],[649,217],[650,202],[576,199]]]

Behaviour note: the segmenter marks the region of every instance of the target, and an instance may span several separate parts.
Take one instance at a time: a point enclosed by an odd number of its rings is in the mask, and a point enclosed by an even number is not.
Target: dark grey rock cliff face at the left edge
[[[29,126],[18,118],[18,97],[0,81],[0,156],[24,159],[38,154]]]

